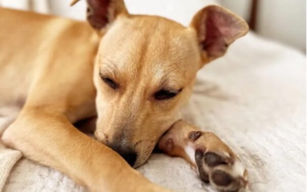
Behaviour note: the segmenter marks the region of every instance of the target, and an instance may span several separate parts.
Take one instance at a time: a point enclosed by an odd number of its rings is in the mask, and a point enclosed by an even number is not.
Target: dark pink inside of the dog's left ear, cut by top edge
[[[108,22],[108,8],[111,0],[86,0],[87,20],[94,29],[103,28]]]

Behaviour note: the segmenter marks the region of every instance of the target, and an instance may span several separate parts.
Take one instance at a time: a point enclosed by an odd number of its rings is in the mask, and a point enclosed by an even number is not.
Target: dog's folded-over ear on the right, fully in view
[[[219,7],[208,6],[196,13],[190,27],[196,30],[203,64],[221,57],[228,46],[248,32],[248,25],[234,13]]]

